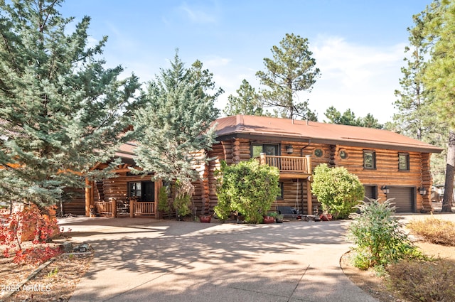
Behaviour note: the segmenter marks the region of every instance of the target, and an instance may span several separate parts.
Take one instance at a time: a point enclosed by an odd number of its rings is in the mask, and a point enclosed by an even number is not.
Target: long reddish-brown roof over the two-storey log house
[[[311,141],[321,144],[343,144],[402,151],[440,153],[443,149],[388,130],[363,128],[296,119],[256,117],[237,114],[223,117],[217,123],[218,139],[229,137],[264,137],[289,141]]]

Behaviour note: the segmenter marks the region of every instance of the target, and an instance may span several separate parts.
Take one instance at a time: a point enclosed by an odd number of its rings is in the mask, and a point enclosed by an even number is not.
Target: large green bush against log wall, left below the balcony
[[[218,205],[215,214],[226,220],[230,212],[238,212],[245,222],[260,223],[279,193],[279,170],[260,165],[255,160],[228,166],[221,162],[218,171]]]

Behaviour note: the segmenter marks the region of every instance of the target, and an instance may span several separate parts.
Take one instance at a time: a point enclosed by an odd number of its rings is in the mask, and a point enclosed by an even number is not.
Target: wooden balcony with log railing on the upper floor
[[[311,157],[272,156],[261,153],[261,164],[267,164],[279,169],[280,178],[308,178],[311,176]]]

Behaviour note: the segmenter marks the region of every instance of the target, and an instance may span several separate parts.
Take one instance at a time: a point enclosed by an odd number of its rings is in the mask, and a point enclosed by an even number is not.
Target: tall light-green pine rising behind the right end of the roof
[[[399,97],[394,103],[398,113],[393,116],[393,123],[387,129],[426,141],[436,146],[444,146],[448,138],[447,125],[434,114],[432,90],[426,89],[423,73],[432,44],[424,35],[425,23],[431,20],[429,11],[412,16],[414,26],[407,28],[410,33],[410,45],[406,46],[405,67],[401,69],[401,90],[395,90]],[[446,150],[441,154],[432,154],[432,176],[434,183],[444,183]]]

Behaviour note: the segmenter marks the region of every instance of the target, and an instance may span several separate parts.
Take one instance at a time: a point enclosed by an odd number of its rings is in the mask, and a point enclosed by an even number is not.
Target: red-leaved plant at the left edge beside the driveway
[[[6,245],[4,257],[10,257],[13,249],[16,263],[42,263],[60,253],[59,248],[52,248],[47,243],[60,234],[55,207],[46,210],[48,214],[32,204],[21,212],[5,216],[6,221],[0,224],[0,245]],[[28,240],[33,246],[23,249],[21,243]]]

